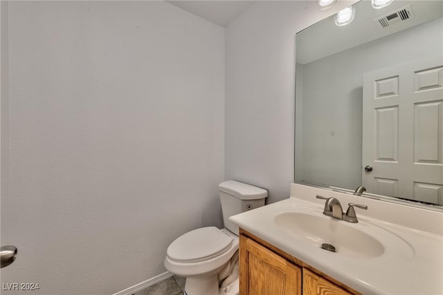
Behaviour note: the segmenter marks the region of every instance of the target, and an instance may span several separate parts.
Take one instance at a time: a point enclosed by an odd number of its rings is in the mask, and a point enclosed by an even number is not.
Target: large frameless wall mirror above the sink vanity
[[[295,181],[441,210],[443,1],[352,7],[296,34]]]

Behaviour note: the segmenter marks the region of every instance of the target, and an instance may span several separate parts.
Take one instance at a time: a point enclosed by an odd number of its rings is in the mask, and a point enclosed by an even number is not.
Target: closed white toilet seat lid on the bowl
[[[175,262],[194,263],[217,258],[231,249],[233,239],[215,226],[195,229],[174,240],[166,251]]]

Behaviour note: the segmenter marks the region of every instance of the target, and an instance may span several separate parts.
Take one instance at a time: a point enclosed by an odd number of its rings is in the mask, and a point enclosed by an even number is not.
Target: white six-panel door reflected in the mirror
[[[363,76],[363,186],[443,205],[443,61]]]

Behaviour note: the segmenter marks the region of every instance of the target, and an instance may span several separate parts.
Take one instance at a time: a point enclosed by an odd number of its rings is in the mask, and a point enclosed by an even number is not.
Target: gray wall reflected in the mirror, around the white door
[[[442,58],[442,28],[443,20],[435,19],[297,64],[298,79],[303,80],[302,96],[298,96],[302,102],[297,102],[303,114],[302,137],[297,134],[302,145],[297,152],[302,159],[296,161],[302,165],[297,180],[350,189],[361,186],[363,74],[426,57]]]

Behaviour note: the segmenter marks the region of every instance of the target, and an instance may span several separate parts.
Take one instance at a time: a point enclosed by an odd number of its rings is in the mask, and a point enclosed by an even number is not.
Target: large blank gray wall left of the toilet
[[[2,283],[113,294],[163,273],[172,240],[222,225],[224,28],[163,1],[8,16],[1,244],[19,258]]]

